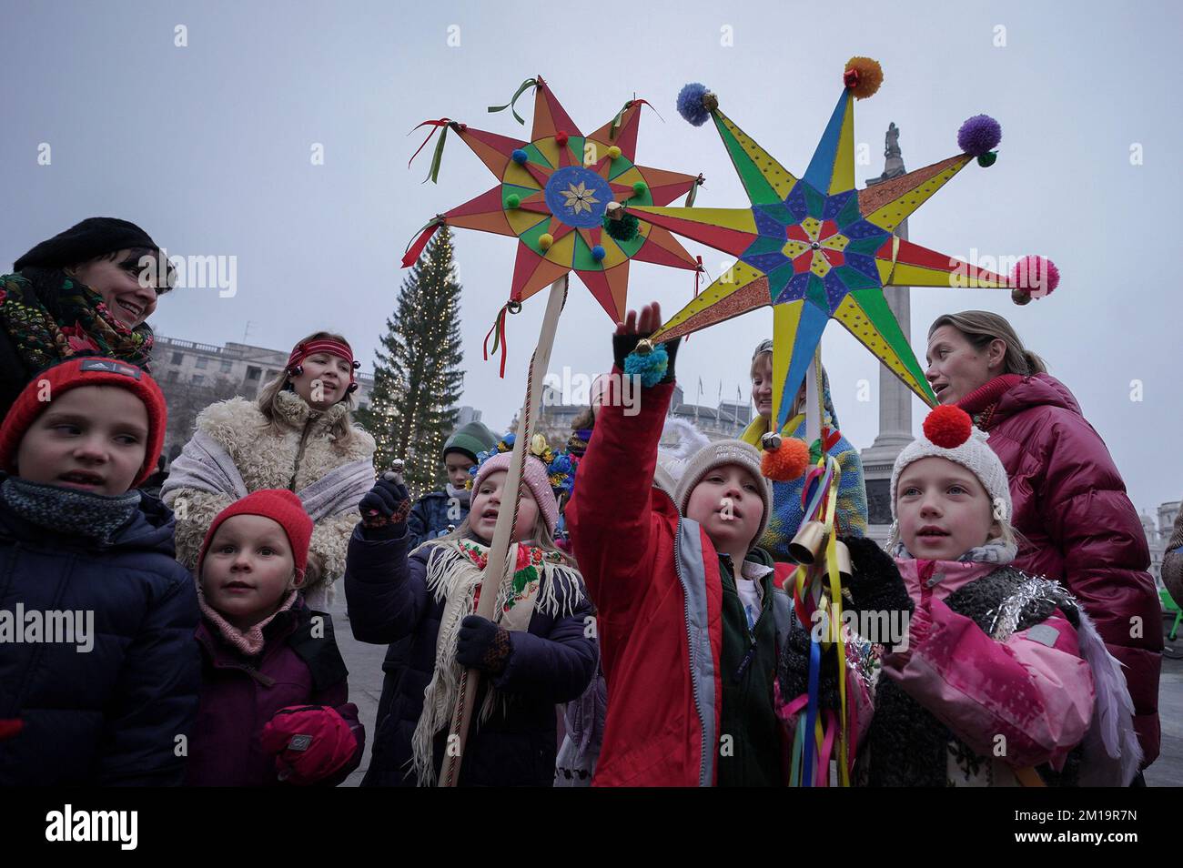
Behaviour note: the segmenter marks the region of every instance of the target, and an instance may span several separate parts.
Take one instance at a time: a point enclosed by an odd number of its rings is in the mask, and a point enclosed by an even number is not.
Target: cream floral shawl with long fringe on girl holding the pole
[[[464,667],[455,661],[460,622],[477,610],[480,582],[489,563],[489,546],[474,539],[429,540],[435,548],[427,559],[427,592],[444,601],[435,639],[435,669],[424,691],[424,711],[412,736],[412,764],[421,786],[435,783],[435,734],[452,723],[455,698],[464,680]],[[551,617],[569,616],[583,600],[583,579],[565,566],[558,552],[526,543],[510,546],[513,575],[497,590],[493,622],[510,631],[523,631],[537,609]],[[487,685],[479,720],[487,720],[503,697]]]

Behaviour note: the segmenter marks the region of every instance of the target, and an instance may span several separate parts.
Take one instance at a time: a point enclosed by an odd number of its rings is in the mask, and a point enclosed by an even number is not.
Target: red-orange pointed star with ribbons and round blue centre
[[[615,203],[665,206],[686,195],[702,176],[634,162],[644,99],[629,101],[615,118],[584,135],[541,77],[526,82],[519,93],[528,86],[535,89],[529,142],[447,122],[498,183],[439,215],[434,226],[516,237],[511,302],[574,271],[608,316],[623,319],[632,260],[687,271],[700,265],[668,231],[622,219]],[[422,237],[418,250],[420,242]]]

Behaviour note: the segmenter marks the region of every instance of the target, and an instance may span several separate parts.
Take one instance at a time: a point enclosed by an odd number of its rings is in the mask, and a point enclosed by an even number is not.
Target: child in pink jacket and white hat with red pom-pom
[[[881,661],[862,780],[1127,785],[1142,753],[1119,665],[1059,583],[1008,565],[1009,486],[985,435],[956,407],[924,432],[892,473],[894,561],[845,540],[853,608],[907,626]]]

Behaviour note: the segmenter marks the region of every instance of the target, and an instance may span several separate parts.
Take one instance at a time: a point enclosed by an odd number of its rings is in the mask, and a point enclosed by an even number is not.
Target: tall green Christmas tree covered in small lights
[[[406,462],[412,497],[444,487],[440,451],[457,423],[460,362],[460,284],[452,234],[442,227],[399,290],[394,317],[377,352],[369,408],[357,421],[377,441],[374,466]]]

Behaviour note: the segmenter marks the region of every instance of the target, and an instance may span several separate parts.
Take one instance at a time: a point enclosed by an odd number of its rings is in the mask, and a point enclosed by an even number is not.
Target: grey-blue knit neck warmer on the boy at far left
[[[140,510],[140,492],[95,494],[8,477],[0,497],[21,518],[56,533],[90,537],[109,545]]]

